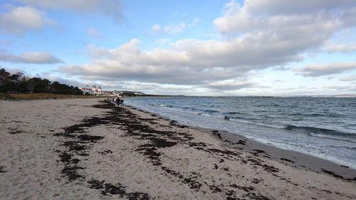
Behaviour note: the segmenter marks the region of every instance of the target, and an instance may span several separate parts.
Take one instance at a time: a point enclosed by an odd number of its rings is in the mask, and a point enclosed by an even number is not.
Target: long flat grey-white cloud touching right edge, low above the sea
[[[338,74],[354,69],[356,69],[356,62],[307,65],[303,68],[296,68],[295,71],[304,76],[321,76]]]

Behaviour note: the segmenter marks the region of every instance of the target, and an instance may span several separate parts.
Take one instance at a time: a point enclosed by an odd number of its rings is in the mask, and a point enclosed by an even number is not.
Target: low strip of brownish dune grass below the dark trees
[[[73,98],[103,98],[103,96],[57,95],[51,93],[35,93],[35,94],[0,93],[0,100],[45,100],[45,99],[73,99]]]

